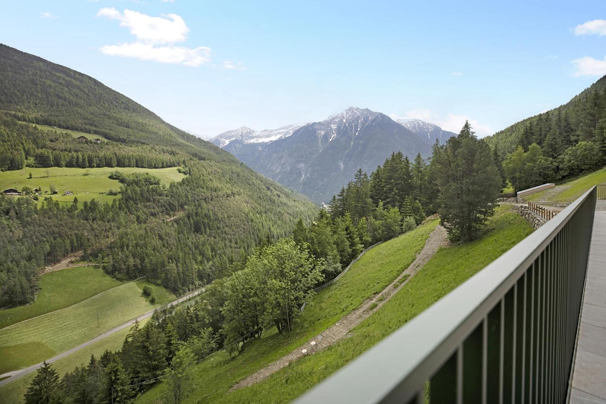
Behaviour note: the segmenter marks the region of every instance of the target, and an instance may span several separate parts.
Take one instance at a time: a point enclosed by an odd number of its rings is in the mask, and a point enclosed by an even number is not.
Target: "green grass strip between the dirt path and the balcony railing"
[[[530,225],[510,209],[499,207],[488,223],[490,230],[481,239],[440,249],[405,287],[353,328],[351,337],[290,363],[263,382],[232,393],[228,393],[231,385],[254,370],[234,367],[228,371],[230,363],[242,367],[246,363],[238,357],[230,359],[222,352],[215,354],[196,365],[193,383],[196,387],[186,402],[284,403],[301,396],[530,234],[533,231]],[[158,402],[163,388],[159,383],[139,400]]]

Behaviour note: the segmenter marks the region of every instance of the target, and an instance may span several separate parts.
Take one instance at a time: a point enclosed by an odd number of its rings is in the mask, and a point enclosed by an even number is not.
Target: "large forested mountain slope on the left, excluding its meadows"
[[[145,275],[181,293],[238,269],[245,253],[316,210],[92,77],[0,45],[0,169],[52,166],[175,167],[187,176],[167,187],[118,173],[121,198],[112,204],[48,198],[37,207],[33,199],[45,195],[31,192],[33,182],[29,196],[1,195],[0,306],[32,301],[41,267],[77,250],[118,278]]]

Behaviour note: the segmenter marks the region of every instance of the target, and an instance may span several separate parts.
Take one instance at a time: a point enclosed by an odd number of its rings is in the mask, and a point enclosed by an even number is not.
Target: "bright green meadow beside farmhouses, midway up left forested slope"
[[[7,188],[19,189],[26,185],[32,188],[42,187],[42,194],[38,203],[42,203],[44,197],[52,196],[53,200],[60,203],[72,203],[74,197],[78,197],[78,203],[90,201],[93,198],[101,203],[111,202],[119,194],[108,194],[110,190],[118,192],[121,184],[118,180],[108,178],[112,171],[121,171],[125,174],[133,172],[149,172],[160,178],[162,184],[173,181],[181,181],[185,174],[177,171],[176,167],[170,168],[132,168],[132,167],[103,167],[103,168],[72,168],[72,167],[49,167],[49,168],[24,168],[15,171],[0,172],[0,191]],[[48,171],[48,177],[46,174]],[[30,172],[33,178],[28,178]],[[50,184],[55,185],[56,195],[50,195]],[[63,195],[65,191],[72,191],[75,195]]]

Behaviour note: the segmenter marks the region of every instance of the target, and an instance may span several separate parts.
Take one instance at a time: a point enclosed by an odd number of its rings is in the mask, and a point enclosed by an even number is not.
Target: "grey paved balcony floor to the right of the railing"
[[[606,211],[593,222],[569,402],[606,404]]]

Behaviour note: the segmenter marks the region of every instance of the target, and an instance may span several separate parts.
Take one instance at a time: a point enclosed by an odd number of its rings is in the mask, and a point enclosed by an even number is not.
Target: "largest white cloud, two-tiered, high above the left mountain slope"
[[[175,45],[177,42],[184,42],[189,33],[185,21],[176,14],[152,17],[138,11],[127,9],[121,13],[113,7],[105,7],[99,10],[97,16],[118,20],[121,27],[127,27],[136,37],[135,42],[105,45],[99,48],[102,53],[192,67],[211,61],[211,50],[208,47],[188,48]]]

